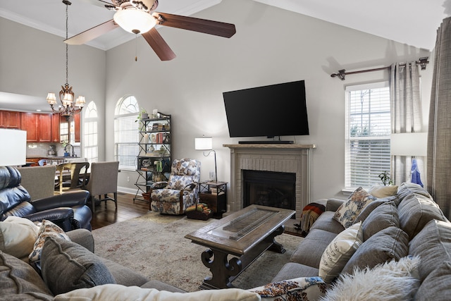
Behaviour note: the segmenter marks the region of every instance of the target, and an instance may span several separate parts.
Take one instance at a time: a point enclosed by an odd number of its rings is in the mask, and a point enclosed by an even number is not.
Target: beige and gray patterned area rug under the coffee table
[[[150,212],[92,231],[95,253],[149,279],[163,281],[188,292],[196,291],[204,277],[211,276],[201,260],[201,253],[206,247],[192,243],[185,235],[213,221],[216,220],[199,221],[187,219],[186,216]],[[285,247],[286,252],[264,252],[235,278],[232,283],[235,287],[248,289],[271,282],[283,264],[290,262],[291,254],[302,238],[284,233],[276,240]]]

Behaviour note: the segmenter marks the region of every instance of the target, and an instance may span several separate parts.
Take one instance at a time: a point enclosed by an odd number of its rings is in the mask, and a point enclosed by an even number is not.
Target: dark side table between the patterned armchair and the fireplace
[[[221,219],[227,211],[227,182],[200,182],[199,199],[213,211],[214,218]]]

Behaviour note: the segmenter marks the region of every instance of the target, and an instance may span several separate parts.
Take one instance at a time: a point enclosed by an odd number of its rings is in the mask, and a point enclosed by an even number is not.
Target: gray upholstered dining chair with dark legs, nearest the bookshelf
[[[85,190],[89,191],[89,202],[92,213],[95,212],[96,203],[113,201],[118,210],[118,172],[119,161],[92,162],[89,181]],[[109,195],[113,195],[113,197]],[[97,198],[96,198],[97,197]]]

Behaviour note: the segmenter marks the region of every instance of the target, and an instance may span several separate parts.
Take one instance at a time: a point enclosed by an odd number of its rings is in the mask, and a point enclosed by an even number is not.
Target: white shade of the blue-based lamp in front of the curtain
[[[390,154],[426,156],[428,133],[399,133],[390,136]]]

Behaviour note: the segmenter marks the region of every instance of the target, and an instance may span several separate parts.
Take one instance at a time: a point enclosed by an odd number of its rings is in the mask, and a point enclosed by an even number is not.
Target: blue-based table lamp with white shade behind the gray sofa
[[[426,156],[428,133],[398,133],[390,136],[390,154],[412,156],[410,182],[423,186],[415,156]]]

